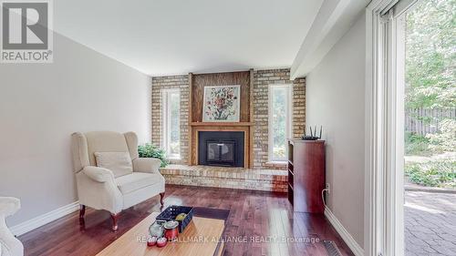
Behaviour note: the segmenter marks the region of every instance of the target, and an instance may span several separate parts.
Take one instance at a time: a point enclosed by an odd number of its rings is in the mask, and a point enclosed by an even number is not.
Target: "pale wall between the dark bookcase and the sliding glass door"
[[[364,245],[366,17],[360,15],[306,78],[306,124],[323,125],[329,209]]]

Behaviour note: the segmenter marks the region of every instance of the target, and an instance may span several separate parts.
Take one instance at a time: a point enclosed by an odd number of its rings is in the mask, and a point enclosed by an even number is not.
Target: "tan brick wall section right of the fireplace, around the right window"
[[[306,79],[290,80],[290,69],[254,71],[254,168],[280,168],[268,162],[268,89],[293,84],[293,136],[302,136],[306,122]]]

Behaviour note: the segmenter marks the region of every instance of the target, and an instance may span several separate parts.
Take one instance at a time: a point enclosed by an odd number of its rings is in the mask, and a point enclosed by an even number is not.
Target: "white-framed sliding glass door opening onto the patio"
[[[448,147],[456,145],[455,3],[378,0],[368,6],[366,255],[432,255],[449,248],[439,244],[451,233],[444,225],[453,217],[432,198],[447,209],[456,209],[456,198],[404,194],[404,188],[455,186],[455,147]]]

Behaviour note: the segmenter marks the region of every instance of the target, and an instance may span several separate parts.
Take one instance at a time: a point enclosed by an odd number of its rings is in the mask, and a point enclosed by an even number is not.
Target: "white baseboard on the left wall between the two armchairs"
[[[26,220],[20,224],[17,224],[16,226],[11,227],[10,230],[16,236],[20,236],[28,231],[35,230],[36,228],[46,225],[53,220],[62,218],[65,215],[76,210],[79,210],[79,201],[72,202],[60,208],[57,208],[56,210],[51,210],[45,214],[33,218],[32,220]]]

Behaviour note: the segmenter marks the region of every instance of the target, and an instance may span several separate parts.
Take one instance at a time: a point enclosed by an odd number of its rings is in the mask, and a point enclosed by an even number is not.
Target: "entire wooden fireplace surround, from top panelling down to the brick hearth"
[[[189,164],[198,164],[198,131],[244,131],[244,168],[253,167],[254,70],[212,74],[189,74]],[[202,122],[204,87],[240,86],[239,122]]]

